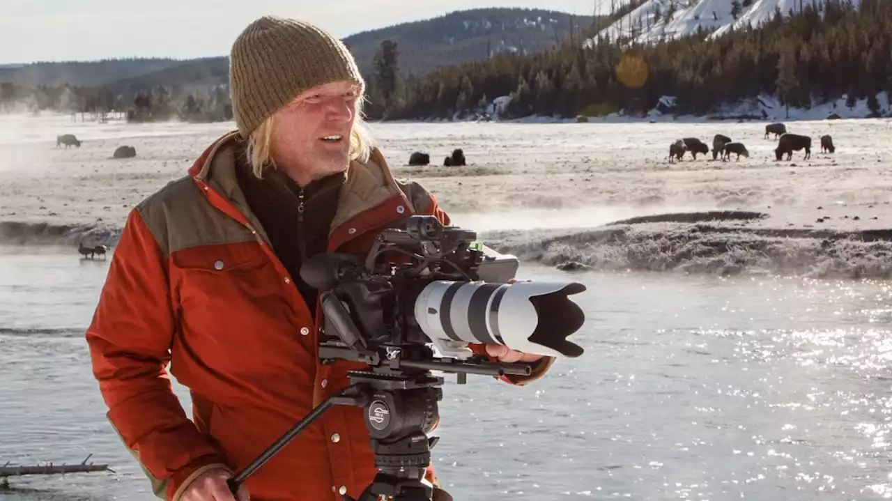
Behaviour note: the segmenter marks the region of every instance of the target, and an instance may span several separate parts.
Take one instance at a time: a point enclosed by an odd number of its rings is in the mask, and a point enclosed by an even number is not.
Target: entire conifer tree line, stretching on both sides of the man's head
[[[385,39],[365,66],[366,114],[369,119],[473,118],[500,96],[511,97],[503,118],[619,110],[632,115],[653,109],[664,95],[676,98],[673,112],[698,115],[760,94],[800,108],[847,94],[850,106],[867,99],[874,115],[892,104],[877,98],[892,92],[888,0],[861,0],[860,7],[850,0],[805,0],[800,12],[775,12],[762,26],[721,37],[699,32],[650,45],[604,37],[582,44],[583,35],[597,33],[606,26],[602,22],[615,21],[642,2],[633,0],[608,20],[595,18],[597,25],[587,33],[577,32],[555,49],[500,53],[417,78],[407,78],[401,68],[400,45]],[[231,119],[227,65],[218,66],[205,68],[198,61],[95,86],[0,82],[0,111],[28,103],[32,111],[126,112],[132,121]]]

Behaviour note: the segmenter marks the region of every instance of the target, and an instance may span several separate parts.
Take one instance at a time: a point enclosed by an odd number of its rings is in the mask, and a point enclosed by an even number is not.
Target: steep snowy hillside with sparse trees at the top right
[[[611,40],[633,38],[639,43],[654,43],[687,37],[698,29],[714,30],[710,37],[719,37],[731,29],[754,28],[771,21],[775,10],[783,16],[799,12],[814,0],[647,0],[624,15],[619,21],[599,32]],[[860,4],[860,0],[852,0]],[[737,6],[735,6],[737,4]],[[585,42],[586,46],[594,39]]]

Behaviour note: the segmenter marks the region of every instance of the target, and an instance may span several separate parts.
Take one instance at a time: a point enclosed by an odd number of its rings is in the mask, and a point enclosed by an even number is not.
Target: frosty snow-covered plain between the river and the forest
[[[15,121],[18,120],[18,121]],[[72,124],[0,119],[0,238],[113,243],[128,210],[171,179],[227,123]],[[764,121],[372,124],[395,175],[432,190],[459,226],[524,259],[561,266],[706,273],[892,273],[888,119],[800,120],[812,158],[774,160]],[[14,127],[10,127],[14,124]],[[78,134],[80,148],[56,148]],[[669,163],[669,144],[715,134],[746,144],[739,161]],[[822,153],[819,137],[837,150]],[[122,144],[136,158],[112,160]],[[463,148],[468,166],[444,168]],[[409,167],[429,152],[430,167]],[[717,212],[716,212],[717,211]],[[681,214],[665,217],[665,214]],[[624,221],[629,218],[632,221]],[[864,242],[864,241],[870,242]]]

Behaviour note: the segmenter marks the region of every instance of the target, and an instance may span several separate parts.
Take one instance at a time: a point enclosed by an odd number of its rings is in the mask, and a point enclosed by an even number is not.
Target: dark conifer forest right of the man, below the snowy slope
[[[656,45],[600,38],[527,57],[500,55],[396,82],[399,47],[383,46],[368,78],[372,119],[459,117],[510,95],[507,114],[573,117],[586,110],[652,109],[663,95],[677,111],[703,114],[721,103],[775,94],[808,107],[842,94],[850,102],[892,91],[892,2],[823,0],[760,27]],[[885,104],[885,103],[884,103]],[[594,114],[594,113],[586,113]]]

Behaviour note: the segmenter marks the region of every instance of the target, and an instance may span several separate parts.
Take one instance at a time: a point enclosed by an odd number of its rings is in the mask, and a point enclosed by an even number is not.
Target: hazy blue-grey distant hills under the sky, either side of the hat
[[[400,74],[421,76],[499,53],[520,55],[549,50],[568,37],[591,36],[592,16],[542,9],[489,8],[357,33],[343,39],[360,70],[370,75],[379,45],[392,40],[400,51]],[[193,60],[127,59],[101,62],[37,62],[0,65],[0,82],[18,86],[104,86],[126,92],[151,86],[225,84],[227,56]]]

